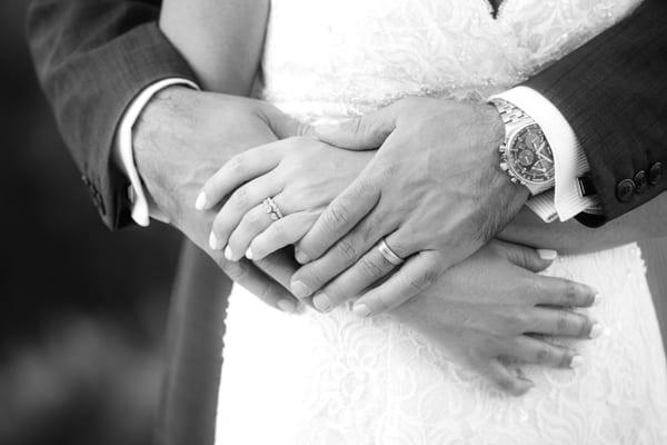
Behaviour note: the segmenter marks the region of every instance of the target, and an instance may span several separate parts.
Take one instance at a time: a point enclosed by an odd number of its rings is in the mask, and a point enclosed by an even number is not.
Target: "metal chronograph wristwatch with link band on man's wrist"
[[[500,145],[500,168],[515,184],[526,186],[530,195],[554,187],[554,152],[539,125],[520,108],[495,98],[505,123],[505,141]]]

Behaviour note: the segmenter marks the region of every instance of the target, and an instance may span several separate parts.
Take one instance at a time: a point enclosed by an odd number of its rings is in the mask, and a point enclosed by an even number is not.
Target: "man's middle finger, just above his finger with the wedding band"
[[[339,240],[322,257],[301,267],[292,277],[292,290],[299,298],[310,296],[321,289],[327,283],[344,270],[351,267],[364,254],[374,249],[378,240],[388,230],[394,228],[382,227],[381,221],[375,217],[364,218],[345,238]],[[302,255],[300,246],[297,257]],[[358,291],[361,289],[357,289]]]

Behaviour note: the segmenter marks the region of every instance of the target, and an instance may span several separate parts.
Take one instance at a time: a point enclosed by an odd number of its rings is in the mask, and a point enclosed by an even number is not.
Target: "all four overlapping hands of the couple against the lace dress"
[[[326,313],[354,299],[360,317],[389,312],[512,395],[534,386],[520,364],[581,365],[544,336],[600,334],[573,310],[596,303],[593,288],[537,274],[555,251],[495,239],[528,192],[498,167],[492,106],[407,98],[308,127],[233,96],[177,88],[153,102],[135,141],[149,191],[266,303]],[[389,261],[381,240],[405,263]]]

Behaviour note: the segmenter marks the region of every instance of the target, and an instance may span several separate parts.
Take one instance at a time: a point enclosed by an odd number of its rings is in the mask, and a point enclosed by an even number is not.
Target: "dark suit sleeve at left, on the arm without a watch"
[[[110,228],[131,224],[128,180],[111,160],[132,99],[166,78],[195,77],[158,28],[159,0],[38,0],[28,41],[66,145]]]

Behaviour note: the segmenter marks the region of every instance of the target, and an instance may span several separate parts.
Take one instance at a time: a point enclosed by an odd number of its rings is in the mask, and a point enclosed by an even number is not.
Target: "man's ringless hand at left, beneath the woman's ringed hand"
[[[269,305],[291,312],[286,289],[295,263],[282,253],[258,263],[229,263],[208,248],[217,208],[197,211],[197,194],[231,157],[299,134],[299,125],[266,102],[171,87],[158,93],[135,126],[135,160],[150,197],[229,275]],[[261,270],[260,270],[261,268]],[[271,277],[271,278],[270,278]]]

